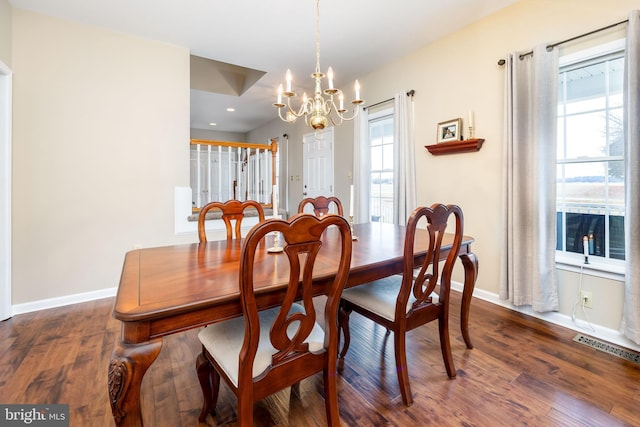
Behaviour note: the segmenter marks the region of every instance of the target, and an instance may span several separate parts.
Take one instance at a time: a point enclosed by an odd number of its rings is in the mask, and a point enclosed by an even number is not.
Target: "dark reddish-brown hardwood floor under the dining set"
[[[457,378],[448,379],[437,325],[409,333],[415,403],[404,407],[392,340],[352,314],[352,341],[339,377],[345,426],[640,425],[640,365],[572,341],[575,331],[474,300],[467,350],[453,294],[451,339]],[[119,322],[113,299],[23,314],[0,322],[0,403],[68,403],[71,426],[113,425],[107,366]],[[197,331],[165,339],[142,385],[147,426],[197,425]],[[255,406],[261,426],[323,426],[322,377],[299,394],[284,390]],[[217,416],[235,425],[235,398],[221,389]]]

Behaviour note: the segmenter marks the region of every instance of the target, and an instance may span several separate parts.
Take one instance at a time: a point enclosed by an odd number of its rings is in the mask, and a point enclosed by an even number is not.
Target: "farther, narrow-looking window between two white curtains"
[[[371,153],[369,212],[371,222],[393,223],[394,151],[393,109],[369,114]]]

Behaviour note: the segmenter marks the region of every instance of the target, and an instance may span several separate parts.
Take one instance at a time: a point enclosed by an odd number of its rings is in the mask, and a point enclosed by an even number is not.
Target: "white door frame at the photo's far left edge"
[[[0,320],[11,309],[11,122],[13,73],[0,61]]]

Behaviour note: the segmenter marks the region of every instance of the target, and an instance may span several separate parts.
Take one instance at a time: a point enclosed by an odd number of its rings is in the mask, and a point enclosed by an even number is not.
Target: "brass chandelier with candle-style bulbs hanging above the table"
[[[327,78],[328,87],[322,90],[322,79]],[[278,108],[278,116],[281,120],[293,123],[298,117],[304,116],[304,122],[313,129],[324,129],[329,121],[334,126],[340,125],[343,120],[353,120],[360,111],[360,104],[364,101],[360,99],[360,83],[356,80],[354,84],[355,98],[351,103],[355,106],[351,117],[347,117],[347,109],[344,108],[344,93],[340,89],[333,86],[333,69],[329,67],[325,75],[320,71],[320,0],[316,0],[316,70],[311,74],[311,78],[315,83],[313,98],[302,94],[302,104],[299,108],[291,105],[291,99],[296,96],[291,90],[291,70],[287,70],[285,76],[286,88],[283,89],[282,84],[278,87],[278,99],[273,105]],[[286,104],[282,97],[286,97]],[[334,97],[338,98],[338,105],[334,101]],[[285,115],[282,115],[282,109],[285,108]]]

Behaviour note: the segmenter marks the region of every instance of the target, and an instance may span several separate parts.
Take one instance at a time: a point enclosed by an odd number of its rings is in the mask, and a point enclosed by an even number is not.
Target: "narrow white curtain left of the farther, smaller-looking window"
[[[371,170],[371,153],[369,150],[369,112],[366,108],[360,111],[353,126],[353,187],[354,212],[353,222],[362,224],[369,222],[370,189],[369,170]]]

